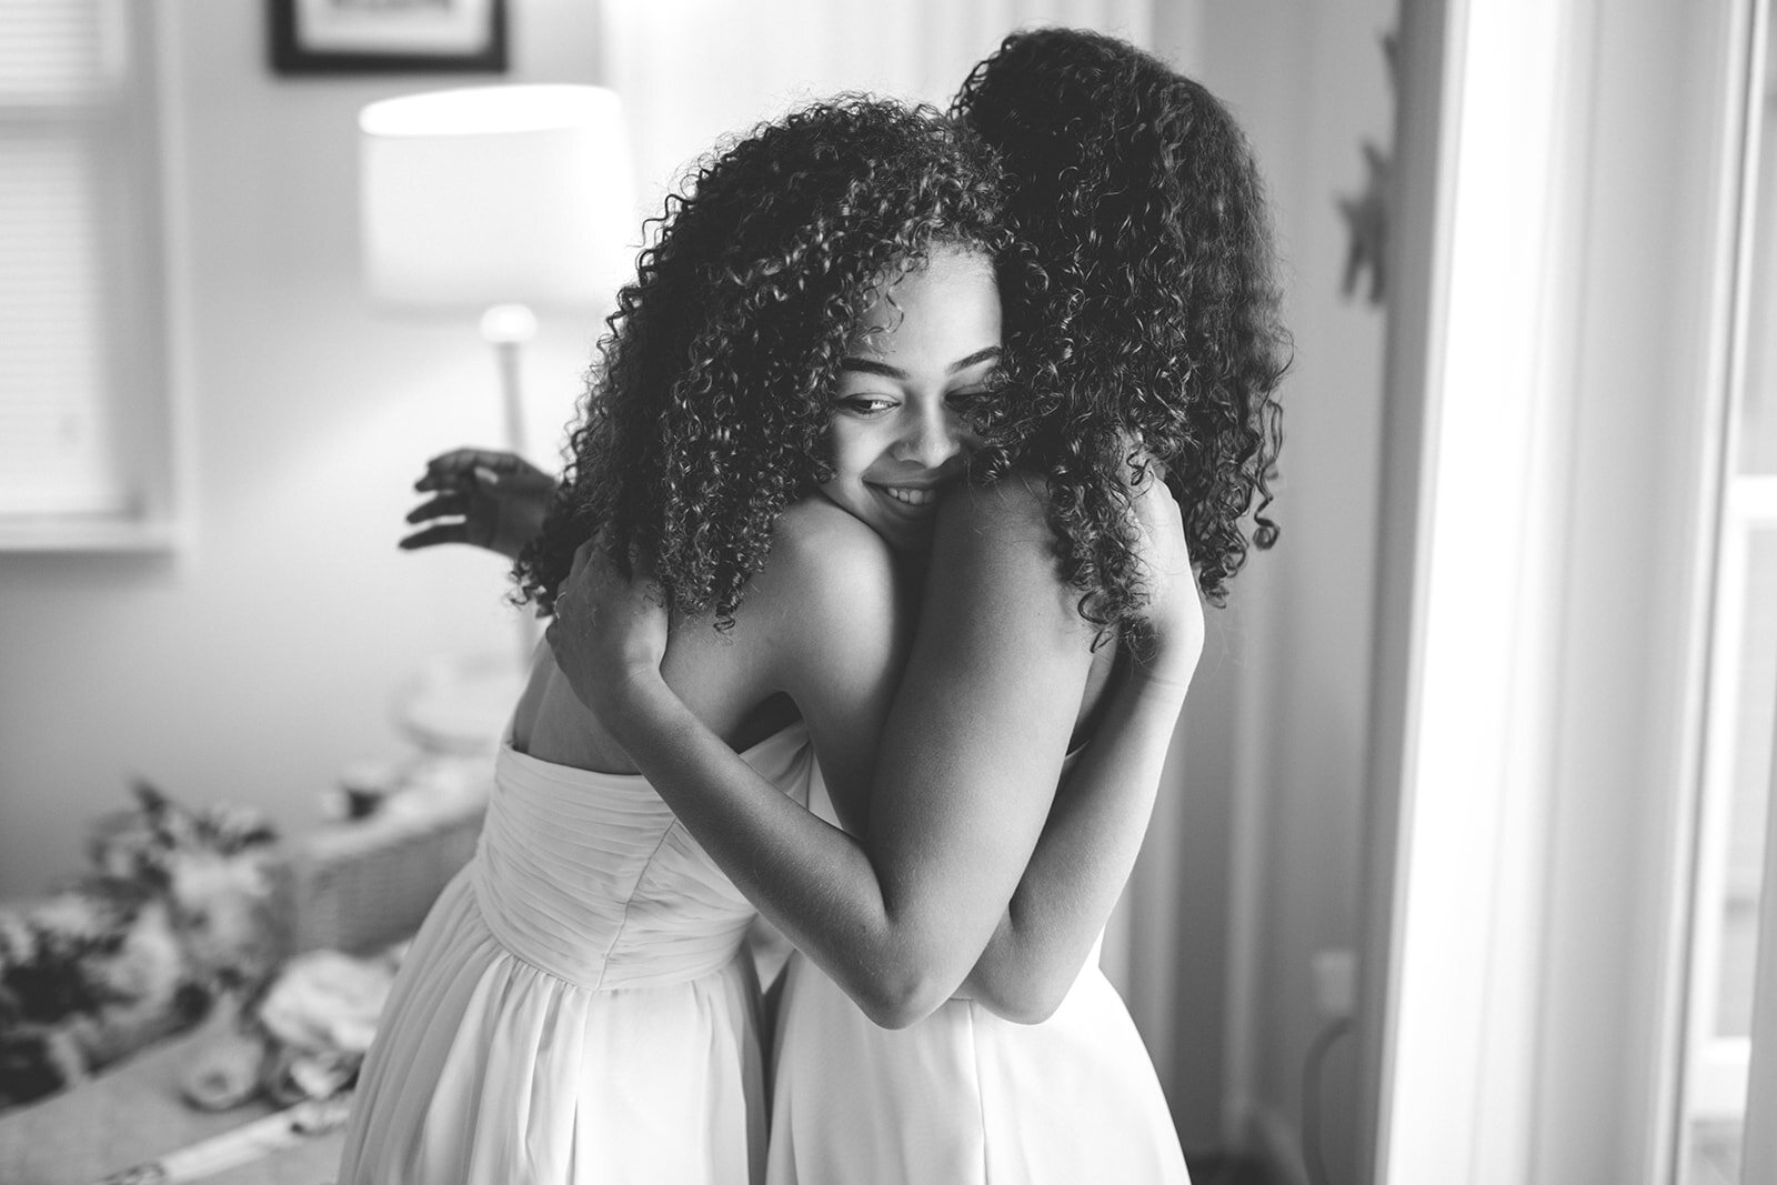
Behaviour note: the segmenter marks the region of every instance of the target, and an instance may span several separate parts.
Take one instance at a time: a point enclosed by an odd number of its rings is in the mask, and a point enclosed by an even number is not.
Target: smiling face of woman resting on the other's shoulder
[[[938,489],[979,442],[956,405],[992,382],[999,355],[993,263],[933,251],[876,297],[853,334],[828,428],[835,473],[821,492],[892,547],[924,545]]]

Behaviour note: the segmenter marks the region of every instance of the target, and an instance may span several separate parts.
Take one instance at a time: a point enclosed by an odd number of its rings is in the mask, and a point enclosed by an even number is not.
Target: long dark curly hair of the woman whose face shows
[[[569,464],[515,565],[553,611],[574,549],[732,625],[771,529],[833,476],[830,393],[878,286],[938,245],[1013,258],[999,169],[942,112],[864,96],[761,124],[700,163],[606,322]]]

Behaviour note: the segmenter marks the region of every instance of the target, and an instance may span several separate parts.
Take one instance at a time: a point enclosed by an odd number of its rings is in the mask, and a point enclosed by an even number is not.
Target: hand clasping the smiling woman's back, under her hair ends
[[[666,622],[654,565],[638,556],[626,577],[592,540],[574,553],[544,640],[579,702],[601,721],[617,725],[636,680],[659,679]]]

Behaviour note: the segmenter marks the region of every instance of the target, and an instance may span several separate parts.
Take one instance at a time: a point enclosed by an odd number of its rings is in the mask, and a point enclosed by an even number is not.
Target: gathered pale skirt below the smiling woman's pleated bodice
[[[492,940],[458,874],[386,1016],[341,1185],[759,1180],[759,988],[745,952],[689,982],[592,991]]]

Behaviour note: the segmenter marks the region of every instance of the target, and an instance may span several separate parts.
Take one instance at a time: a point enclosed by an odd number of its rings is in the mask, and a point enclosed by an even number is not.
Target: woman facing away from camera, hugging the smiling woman
[[[785,801],[673,693],[661,656],[684,632],[610,549],[579,553],[549,641],[800,950],[771,1181],[1182,1181],[1151,1064],[1089,954],[1196,661],[1201,620],[1167,556],[1189,538],[1219,600],[1240,519],[1269,501],[1285,338],[1263,194],[1228,112],[1109,37],[1013,36],[958,105],[1004,156],[1038,270],[1008,277],[1009,380],[968,402],[976,480],[936,512],[874,762],[860,780],[823,750],[846,830]],[[896,370],[857,391],[892,405]],[[1260,545],[1272,533],[1260,517]],[[1162,645],[1144,663],[1146,634]],[[1022,979],[999,977],[1013,966]]]

